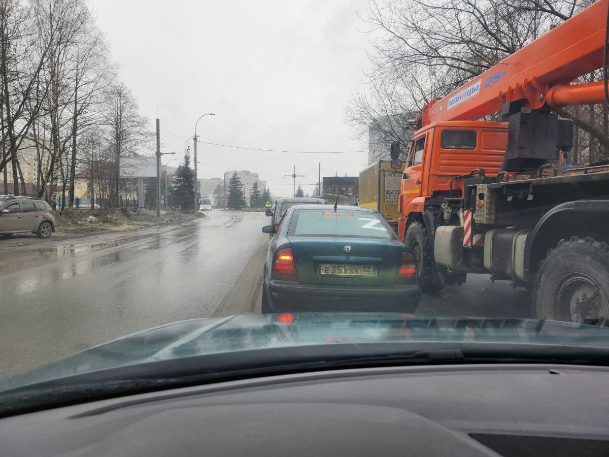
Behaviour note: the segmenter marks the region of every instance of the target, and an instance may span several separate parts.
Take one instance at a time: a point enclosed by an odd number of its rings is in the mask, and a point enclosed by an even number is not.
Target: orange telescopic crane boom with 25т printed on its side
[[[599,0],[471,82],[423,107],[422,126],[475,121],[505,102],[533,109],[604,101],[604,82],[570,85],[603,66],[609,0]]]

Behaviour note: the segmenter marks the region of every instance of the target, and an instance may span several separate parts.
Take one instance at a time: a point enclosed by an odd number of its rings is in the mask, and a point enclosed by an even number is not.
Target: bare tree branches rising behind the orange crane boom
[[[404,126],[404,115],[462,86],[591,2],[370,0],[364,20],[381,35],[369,55],[368,90],[354,95],[346,118],[359,135],[376,126],[388,138],[400,139],[399,129],[382,119],[398,119]],[[602,108],[589,111],[599,113],[557,110],[607,149]]]

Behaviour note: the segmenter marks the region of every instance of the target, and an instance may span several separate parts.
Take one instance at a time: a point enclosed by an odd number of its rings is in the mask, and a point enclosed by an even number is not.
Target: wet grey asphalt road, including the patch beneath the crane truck
[[[267,220],[216,210],[74,244],[0,240],[0,378],[167,322],[259,312]],[[417,314],[533,317],[529,292],[486,275],[424,296]]]

